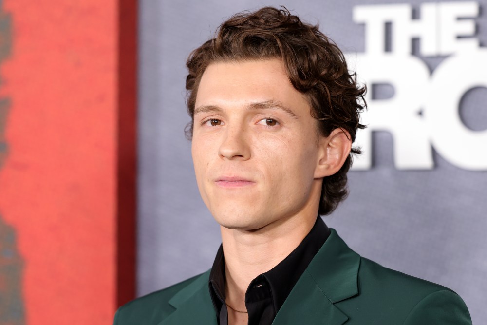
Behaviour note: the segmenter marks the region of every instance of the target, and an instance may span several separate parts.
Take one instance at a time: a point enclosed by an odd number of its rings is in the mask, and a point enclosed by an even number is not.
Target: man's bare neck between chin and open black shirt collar
[[[258,230],[221,227],[225,252],[226,302],[245,309],[250,282],[288,256],[310,232],[318,211],[277,220]]]

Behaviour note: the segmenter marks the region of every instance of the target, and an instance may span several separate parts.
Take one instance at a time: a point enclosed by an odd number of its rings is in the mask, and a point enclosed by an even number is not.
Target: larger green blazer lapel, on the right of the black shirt
[[[334,304],[358,294],[360,256],[335,229],[301,275],[273,324],[341,325],[348,316]]]

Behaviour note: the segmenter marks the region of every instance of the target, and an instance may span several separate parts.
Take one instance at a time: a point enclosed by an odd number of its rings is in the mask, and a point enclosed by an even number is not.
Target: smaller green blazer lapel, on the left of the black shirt
[[[217,325],[215,307],[208,290],[209,271],[169,300],[176,310],[158,325]]]

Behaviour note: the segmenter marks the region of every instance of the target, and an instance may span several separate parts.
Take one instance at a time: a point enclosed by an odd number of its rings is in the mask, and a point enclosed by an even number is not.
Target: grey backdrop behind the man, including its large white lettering
[[[369,89],[364,154],[325,222],[487,323],[486,0],[139,1],[138,295],[207,270],[221,242],[184,136],[186,58],[231,15],[280,4],[319,23]]]

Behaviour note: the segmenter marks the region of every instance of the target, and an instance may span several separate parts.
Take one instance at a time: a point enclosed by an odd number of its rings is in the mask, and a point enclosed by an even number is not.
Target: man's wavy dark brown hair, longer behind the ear
[[[311,115],[319,120],[319,134],[326,137],[341,128],[355,141],[357,128],[365,127],[360,124],[359,115],[366,108],[366,87],[357,84],[343,53],[318,30],[318,25],[302,22],[285,7],[236,14],[220,25],[215,38],[190,54],[186,78],[187,111],[191,116],[186,128],[189,140],[198,85],[206,67],[214,62],[267,58],[283,59],[291,84],[306,96]],[[353,148],[341,169],[323,179],[320,215],[330,214],[347,196],[347,172],[353,154],[360,154],[360,150]]]

